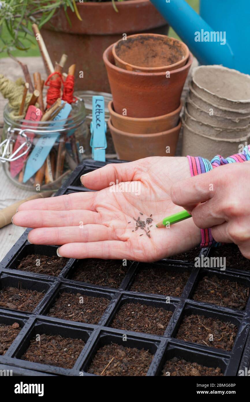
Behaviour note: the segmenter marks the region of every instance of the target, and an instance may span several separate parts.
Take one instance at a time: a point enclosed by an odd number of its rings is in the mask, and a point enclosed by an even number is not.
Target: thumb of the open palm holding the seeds
[[[128,163],[112,163],[102,168],[93,170],[81,176],[81,183],[91,190],[102,190],[109,187],[111,183],[135,180],[136,161]]]

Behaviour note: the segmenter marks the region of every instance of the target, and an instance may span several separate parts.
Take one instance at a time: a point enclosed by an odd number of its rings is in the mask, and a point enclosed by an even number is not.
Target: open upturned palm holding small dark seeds
[[[200,242],[200,230],[192,219],[168,229],[155,227],[181,210],[171,201],[170,189],[188,178],[187,158],[152,157],[108,164],[81,178],[85,187],[98,191],[27,201],[18,207],[13,223],[34,228],[28,234],[33,244],[62,245],[58,251],[64,257],[159,260]],[[116,180],[120,185],[112,186]],[[126,183],[127,190],[135,191],[126,191]],[[141,229],[132,232],[133,217],[146,221],[151,214],[150,238]]]

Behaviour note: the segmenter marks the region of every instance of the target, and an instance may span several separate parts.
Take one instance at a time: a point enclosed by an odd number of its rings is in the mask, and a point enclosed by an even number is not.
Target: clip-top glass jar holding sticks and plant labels
[[[0,161],[12,183],[29,191],[57,190],[85,158],[84,102],[78,98],[71,106],[67,119],[34,122],[12,119],[6,105]]]

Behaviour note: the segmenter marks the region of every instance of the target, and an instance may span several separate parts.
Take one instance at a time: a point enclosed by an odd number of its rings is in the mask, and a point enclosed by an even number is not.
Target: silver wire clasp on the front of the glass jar
[[[17,133],[18,135],[20,135],[24,141],[22,142],[22,144],[20,144],[20,146],[15,150],[15,152],[12,152],[12,148],[13,145],[15,144],[15,139],[13,138],[13,134]],[[26,146],[26,149],[24,148]],[[19,158],[21,158],[22,156],[24,156],[31,147],[31,142],[28,139],[27,135],[25,134],[25,130],[19,129],[19,128],[12,128],[11,126],[8,127],[7,130],[7,138],[4,139],[4,141],[2,141],[0,143],[0,161],[2,163],[5,163],[6,161],[8,162],[13,162],[14,160],[17,160]],[[20,152],[20,150],[22,150],[24,148],[24,152],[22,152],[22,154],[16,156],[18,154],[18,152]]]

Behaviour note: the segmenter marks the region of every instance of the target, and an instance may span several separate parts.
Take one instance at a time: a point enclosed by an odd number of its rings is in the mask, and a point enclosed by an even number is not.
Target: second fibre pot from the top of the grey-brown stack
[[[200,95],[197,94],[197,92],[193,89],[192,83],[189,82],[189,98],[193,101],[193,103],[203,109],[206,112],[209,112],[209,110],[213,109],[213,114],[215,116],[219,117],[250,117],[250,111],[247,113],[242,112],[241,110],[235,110],[235,109],[226,109],[226,108],[221,108],[214,106],[213,103],[209,103],[205,101]]]

